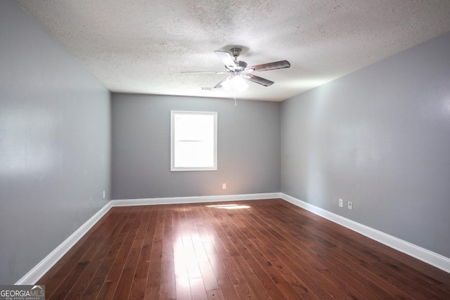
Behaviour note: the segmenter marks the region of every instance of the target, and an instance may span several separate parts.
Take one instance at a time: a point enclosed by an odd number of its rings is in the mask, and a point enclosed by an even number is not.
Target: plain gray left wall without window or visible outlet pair
[[[0,1],[0,284],[36,266],[109,189],[109,91],[15,1]]]

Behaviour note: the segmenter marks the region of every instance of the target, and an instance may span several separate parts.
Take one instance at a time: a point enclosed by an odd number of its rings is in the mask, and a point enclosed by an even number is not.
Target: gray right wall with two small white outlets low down
[[[445,34],[285,100],[281,191],[450,257],[449,53]]]

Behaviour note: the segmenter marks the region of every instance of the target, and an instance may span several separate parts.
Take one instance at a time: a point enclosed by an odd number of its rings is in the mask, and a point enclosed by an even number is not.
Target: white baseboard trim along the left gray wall
[[[66,254],[70,248],[75,245],[80,238],[85,235],[92,226],[94,226],[101,217],[110,210],[111,204],[108,202],[99,211],[91,216],[82,226],[80,226],[75,233],[72,233],[64,242],[62,242],[56,249],[54,249],[49,255],[42,259],[34,268],[32,268],[27,274],[20,278],[15,285],[34,285],[52,266],[57,263],[64,254]]]

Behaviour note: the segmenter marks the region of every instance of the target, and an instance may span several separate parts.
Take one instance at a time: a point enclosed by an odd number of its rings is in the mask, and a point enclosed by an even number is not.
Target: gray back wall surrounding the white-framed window
[[[171,110],[218,112],[217,171],[170,171]],[[280,191],[280,103],[113,93],[112,120],[113,199]]]

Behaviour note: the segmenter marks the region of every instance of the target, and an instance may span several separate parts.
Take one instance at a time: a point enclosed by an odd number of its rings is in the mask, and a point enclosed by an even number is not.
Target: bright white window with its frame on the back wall
[[[171,112],[170,171],[217,170],[217,112]]]

